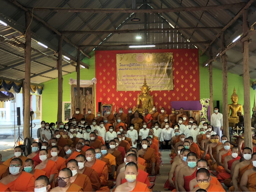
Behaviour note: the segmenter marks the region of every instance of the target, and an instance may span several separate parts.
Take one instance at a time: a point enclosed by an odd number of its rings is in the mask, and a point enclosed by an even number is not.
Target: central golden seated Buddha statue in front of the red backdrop
[[[154,101],[151,95],[149,95],[148,91],[150,88],[147,86],[146,77],[144,79],[144,84],[141,86],[141,94],[138,95],[137,105],[135,110],[138,110],[140,113],[144,112],[145,109],[148,109],[148,112],[152,111],[154,106]],[[141,104],[141,107],[140,107]]]

